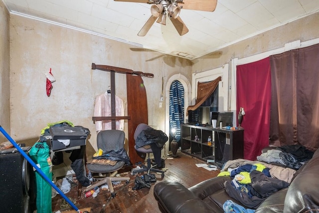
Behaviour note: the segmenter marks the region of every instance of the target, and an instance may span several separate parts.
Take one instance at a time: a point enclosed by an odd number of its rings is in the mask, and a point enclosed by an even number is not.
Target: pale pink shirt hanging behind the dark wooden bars
[[[116,116],[124,116],[124,101],[115,96],[115,114]],[[94,106],[94,117],[110,117],[111,116],[111,94],[104,93],[96,97]],[[95,121],[96,131],[112,129],[112,121]],[[124,120],[116,120],[116,129],[124,131]]]

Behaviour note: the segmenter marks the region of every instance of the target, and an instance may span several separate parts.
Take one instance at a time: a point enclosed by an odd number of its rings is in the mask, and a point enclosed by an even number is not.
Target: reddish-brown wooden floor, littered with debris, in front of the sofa
[[[77,187],[72,188],[66,196],[80,210],[91,208],[90,213],[160,213],[153,195],[155,184],[163,180],[170,180],[179,182],[188,188],[206,179],[216,177],[220,172],[219,170],[208,171],[204,168],[198,168],[195,164],[205,162],[180,152],[177,154],[177,158],[165,159],[165,168],[167,170],[164,173],[164,178],[161,179],[160,175],[156,174],[157,182],[152,183],[150,189],[142,188],[134,191],[132,188],[135,186],[135,176],[132,176],[129,172],[128,174],[121,174],[122,177],[131,178],[129,184],[122,182],[114,186],[115,198],[111,199],[110,192],[101,190],[96,198],[85,198],[84,193],[82,193],[81,198],[77,199]],[[168,156],[167,158],[170,157]],[[60,195],[52,199],[52,212],[54,213],[58,210],[61,212],[72,210]]]

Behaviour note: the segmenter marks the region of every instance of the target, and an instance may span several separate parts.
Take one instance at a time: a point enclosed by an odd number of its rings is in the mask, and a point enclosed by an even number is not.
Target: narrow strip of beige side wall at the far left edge
[[[0,1],[0,125],[10,132],[9,13]],[[7,141],[0,133],[0,143]]]

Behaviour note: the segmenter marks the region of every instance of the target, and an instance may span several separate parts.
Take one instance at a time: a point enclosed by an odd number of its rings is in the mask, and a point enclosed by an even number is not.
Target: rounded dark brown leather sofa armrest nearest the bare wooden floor
[[[204,201],[177,182],[156,184],[154,196],[160,211],[164,213],[215,213]]]

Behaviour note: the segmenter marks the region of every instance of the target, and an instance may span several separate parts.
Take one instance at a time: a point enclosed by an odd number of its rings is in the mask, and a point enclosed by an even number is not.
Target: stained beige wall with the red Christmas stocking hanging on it
[[[143,80],[149,125],[159,129],[164,129],[165,117],[165,108],[159,108],[162,77],[165,81],[182,72],[191,78],[189,60],[17,15],[10,16],[10,40],[10,133],[30,144],[47,123],[68,120],[90,129],[96,149],[94,100],[108,90],[110,73],[92,70],[92,63],[154,73]],[[45,73],[50,68],[56,82],[47,97]],[[116,74],[116,94],[127,100],[123,74]]]

